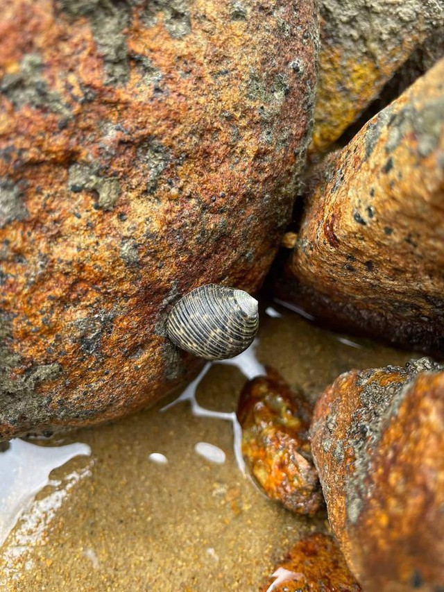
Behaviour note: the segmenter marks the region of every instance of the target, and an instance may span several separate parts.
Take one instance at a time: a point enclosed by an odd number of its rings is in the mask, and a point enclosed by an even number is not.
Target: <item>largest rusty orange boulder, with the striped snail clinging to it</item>
[[[165,337],[180,296],[261,285],[309,142],[318,19],[312,0],[0,6],[10,438],[153,403],[201,363]]]

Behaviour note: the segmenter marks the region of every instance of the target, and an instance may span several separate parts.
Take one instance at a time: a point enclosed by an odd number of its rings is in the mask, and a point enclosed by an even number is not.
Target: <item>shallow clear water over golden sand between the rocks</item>
[[[253,350],[206,366],[176,403],[15,441],[26,455],[0,453],[0,533],[22,517],[0,550],[0,589],[256,591],[292,543],[326,523],[293,516],[244,475],[234,411],[245,381],[273,366],[314,401],[344,371],[411,357],[274,304]]]

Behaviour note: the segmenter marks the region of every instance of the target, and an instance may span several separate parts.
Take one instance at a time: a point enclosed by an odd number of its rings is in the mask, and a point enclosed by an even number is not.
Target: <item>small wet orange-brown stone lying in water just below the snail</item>
[[[278,373],[250,380],[239,398],[242,453],[251,473],[272,500],[312,516],[323,503],[311,459],[311,408]]]

